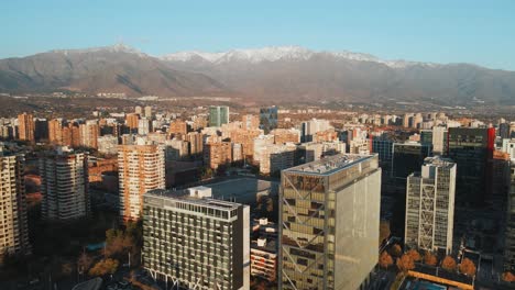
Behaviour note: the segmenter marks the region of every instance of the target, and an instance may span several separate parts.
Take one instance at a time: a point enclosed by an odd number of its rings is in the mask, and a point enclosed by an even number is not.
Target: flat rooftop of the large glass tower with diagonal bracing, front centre
[[[313,163],[299,165],[284,170],[284,172],[304,172],[310,175],[326,176],[355,164],[373,158],[375,155],[339,154],[322,158]]]

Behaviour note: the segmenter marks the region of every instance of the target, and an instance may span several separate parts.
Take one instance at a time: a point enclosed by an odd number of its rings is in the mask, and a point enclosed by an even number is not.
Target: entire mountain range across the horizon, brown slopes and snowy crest
[[[157,58],[116,45],[0,60],[0,92],[56,90],[276,102],[515,104],[515,72],[302,47],[182,52]]]

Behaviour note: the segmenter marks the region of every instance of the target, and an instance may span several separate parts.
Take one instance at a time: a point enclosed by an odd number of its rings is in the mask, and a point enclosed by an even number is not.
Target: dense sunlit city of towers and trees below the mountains
[[[514,122],[141,103],[0,119],[2,289],[512,287]]]

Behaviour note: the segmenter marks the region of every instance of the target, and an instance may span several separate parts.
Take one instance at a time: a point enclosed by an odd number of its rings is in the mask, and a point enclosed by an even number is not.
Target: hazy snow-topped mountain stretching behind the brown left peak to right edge
[[[183,52],[162,59],[260,99],[515,103],[515,72],[468,64],[382,60],[366,54],[300,47]]]

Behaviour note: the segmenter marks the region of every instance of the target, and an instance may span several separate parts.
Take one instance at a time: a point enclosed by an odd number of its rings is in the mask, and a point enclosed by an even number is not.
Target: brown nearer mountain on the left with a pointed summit
[[[190,96],[227,91],[218,81],[178,71],[157,58],[117,45],[53,51],[0,60],[0,90],[124,92],[128,96]]]

